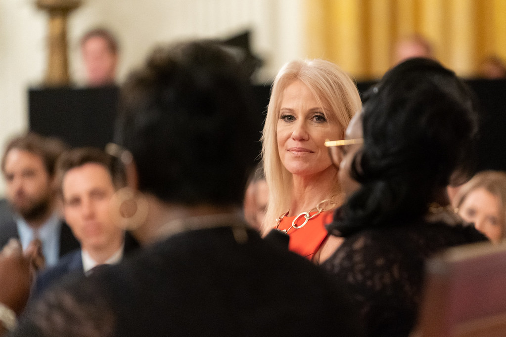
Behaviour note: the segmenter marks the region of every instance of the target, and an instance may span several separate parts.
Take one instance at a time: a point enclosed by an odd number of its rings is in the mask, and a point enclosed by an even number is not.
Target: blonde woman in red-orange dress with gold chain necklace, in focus
[[[262,135],[270,191],[263,232],[285,232],[289,249],[310,260],[325,242],[324,224],[340,204],[338,170],[324,142],[342,139],[360,109],[354,81],[328,61],[289,62],[272,85]]]

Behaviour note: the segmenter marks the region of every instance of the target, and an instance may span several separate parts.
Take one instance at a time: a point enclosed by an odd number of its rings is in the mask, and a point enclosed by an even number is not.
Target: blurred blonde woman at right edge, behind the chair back
[[[460,187],[453,205],[491,242],[501,242],[506,234],[506,173],[478,172]]]

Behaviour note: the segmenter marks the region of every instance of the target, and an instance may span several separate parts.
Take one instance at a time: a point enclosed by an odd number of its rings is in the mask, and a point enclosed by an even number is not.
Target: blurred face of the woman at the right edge
[[[504,219],[500,213],[499,198],[483,187],[469,192],[458,210],[462,219],[474,223],[493,243],[499,243],[504,235]]]

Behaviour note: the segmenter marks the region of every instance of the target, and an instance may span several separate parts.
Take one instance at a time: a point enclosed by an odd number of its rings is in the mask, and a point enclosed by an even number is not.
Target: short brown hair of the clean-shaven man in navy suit
[[[122,166],[116,163],[116,158],[98,148],[86,147],[68,150],[58,158],[56,172],[59,186],[61,187],[63,177],[68,171],[89,163],[100,164],[106,168],[116,189],[125,185],[125,172]]]

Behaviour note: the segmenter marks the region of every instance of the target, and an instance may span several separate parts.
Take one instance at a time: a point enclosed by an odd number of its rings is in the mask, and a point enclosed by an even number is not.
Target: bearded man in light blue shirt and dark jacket
[[[61,220],[56,202],[55,164],[64,150],[61,141],[28,133],[12,139],[2,158],[7,201],[13,215],[0,222],[0,247],[18,238],[23,250],[41,252],[47,266],[79,247]]]

